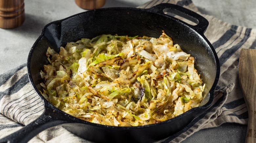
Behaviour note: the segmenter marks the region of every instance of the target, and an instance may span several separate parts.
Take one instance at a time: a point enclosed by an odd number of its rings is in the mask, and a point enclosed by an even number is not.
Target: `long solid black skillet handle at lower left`
[[[30,124],[24,126],[11,135],[0,139],[0,143],[27,143],[30,139],[32,139],[35,135],[39,134],[43,130],[56,125],[67,123],[67,121],[56,120],[50,114],[48,114],[45,110],[45,112],[40,117],[32,121]]]

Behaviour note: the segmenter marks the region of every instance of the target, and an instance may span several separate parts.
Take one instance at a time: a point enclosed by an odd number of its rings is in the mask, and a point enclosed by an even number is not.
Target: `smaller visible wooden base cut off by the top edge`
[[[75,0],[77,6],[83,9],[98,9],[105,4],[106,0]]]

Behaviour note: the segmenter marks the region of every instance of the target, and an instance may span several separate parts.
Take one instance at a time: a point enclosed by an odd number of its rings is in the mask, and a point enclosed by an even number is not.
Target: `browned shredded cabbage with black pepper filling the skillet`
[[[195,60],[164,32],[159,38],[101,35],[50,47],[42,95],[89,122],[142,126],[172,119],[202,100]]]

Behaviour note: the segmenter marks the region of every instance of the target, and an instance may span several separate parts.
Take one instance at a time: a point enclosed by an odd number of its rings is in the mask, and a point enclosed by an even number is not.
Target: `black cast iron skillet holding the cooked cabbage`
[[[171,12],[189,19],[197,25],[187,24],[164,12]],[[217,85],[220,65],[217,54],[203,35],[208,21],[199,14],[172,4],[159,4],[148,9],[102,8],[76,14],[47,24],[35,41],[28,56],[28,76],[35,92],[44,103],[44,113],[0,142],[27,142],[41,131],[62,125],[68,131],[94,142],[154,142],[184,128],[211,105]],[[81,38],[93,38],[101,34],[150,36],[158,38],[162,30],[172,37],[174,43],[195,57],[196,68],[206,83],[200,107],[173,119],[138,127],[114,127],[90,123],[57,109],[40,94],[42,79],[40,70],[48,64],[45,53],[48,46],[59,51],[60,46]]]

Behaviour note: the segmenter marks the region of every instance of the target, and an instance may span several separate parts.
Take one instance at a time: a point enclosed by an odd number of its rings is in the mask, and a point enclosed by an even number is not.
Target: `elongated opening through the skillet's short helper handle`
[[[193,26],[197,25],[199,23],[199,21],[196,18],[194,18],[188,14],[185,14],[177,9],[164,8],[163,13],[173,16],[173,17],[175,17],[187,24],[193,25]]]

